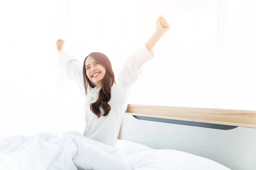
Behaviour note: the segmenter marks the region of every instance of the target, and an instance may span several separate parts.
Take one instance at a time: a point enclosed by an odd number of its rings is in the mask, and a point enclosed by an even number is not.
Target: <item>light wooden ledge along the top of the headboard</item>
[[[249,110],[128,104],[125,114],[256,128],[256,111]]]

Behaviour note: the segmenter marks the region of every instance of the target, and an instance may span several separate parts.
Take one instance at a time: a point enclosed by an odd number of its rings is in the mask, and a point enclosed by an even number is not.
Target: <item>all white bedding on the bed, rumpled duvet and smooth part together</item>
[[[230,170],[189,153],[122,142],[114,148],[77,132],[0,138],[0,170]]]

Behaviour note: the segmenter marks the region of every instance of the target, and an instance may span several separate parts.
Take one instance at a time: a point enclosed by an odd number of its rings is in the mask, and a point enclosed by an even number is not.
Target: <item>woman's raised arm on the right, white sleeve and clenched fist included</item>
[[[131,85],[137,80],[139,70],[148,59],[154,58],[153,47],[158,40],[169,30],[169,24],[161,15],[156,21],[156,31],[141,49],[134,52],[124,63],[118,77],[118,93],[120,101],[127,100]]]

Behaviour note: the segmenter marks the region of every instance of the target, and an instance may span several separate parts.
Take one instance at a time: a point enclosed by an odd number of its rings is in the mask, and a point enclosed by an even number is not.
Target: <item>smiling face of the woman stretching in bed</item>
[[[88,57],[85,61],[86,75],[96,87],[99,88],[102,86],[102,80],[105,76],[106,69],[95,61],[92,57]]]

